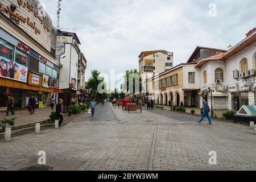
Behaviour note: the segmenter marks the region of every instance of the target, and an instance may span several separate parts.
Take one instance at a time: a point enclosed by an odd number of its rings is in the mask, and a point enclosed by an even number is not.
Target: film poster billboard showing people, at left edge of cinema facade
[[[27,82],[28,68],[0,56],[0,77]]]

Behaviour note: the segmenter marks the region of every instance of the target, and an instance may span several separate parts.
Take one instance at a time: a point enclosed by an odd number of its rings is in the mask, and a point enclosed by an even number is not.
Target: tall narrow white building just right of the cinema
[[[67,111],[71,105],[71,99],[80,101],[81,94],[84,94],[85,69],[87,61],[81,53],[80,40],[76,33],[58,30],[56,40],[56,58],[63,65],[59,76],[59,98],[63,98],[63,110]],[[82,93],[81,93],[82,91]]]

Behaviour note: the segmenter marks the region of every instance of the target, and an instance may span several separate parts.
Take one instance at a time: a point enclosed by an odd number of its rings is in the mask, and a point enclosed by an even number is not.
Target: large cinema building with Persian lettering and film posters
[[[11,93],[16,108],[25,108],[32,94],[47,106],[61,67],[55,59],[56,28],[38,0],[0,5],[0,107]]]

